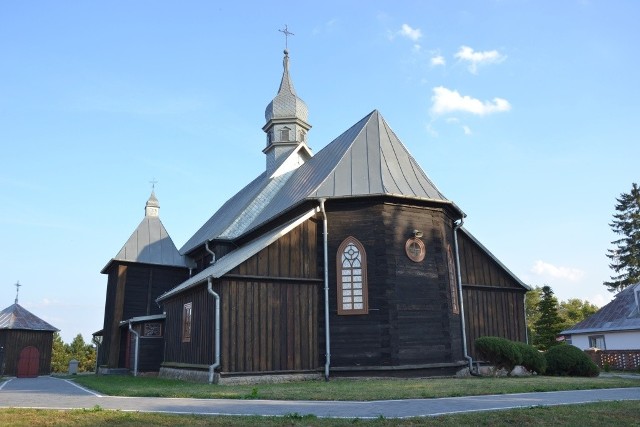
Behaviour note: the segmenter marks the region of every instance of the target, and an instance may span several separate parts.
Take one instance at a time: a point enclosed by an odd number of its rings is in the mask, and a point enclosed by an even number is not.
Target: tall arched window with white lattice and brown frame
[[[367,314],[367,258],[362,244],[348,237],[336,256],[338,314]]]

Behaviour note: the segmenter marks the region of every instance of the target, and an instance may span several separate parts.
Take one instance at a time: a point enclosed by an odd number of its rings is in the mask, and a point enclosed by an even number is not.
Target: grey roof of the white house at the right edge
[[[610,332],[640,330],[640,313],[634,292],[640,291],[640,284],[629,286],[620,291],[615,298],[582,322],[560,332],[561,334],[580,334],[591,332]]]

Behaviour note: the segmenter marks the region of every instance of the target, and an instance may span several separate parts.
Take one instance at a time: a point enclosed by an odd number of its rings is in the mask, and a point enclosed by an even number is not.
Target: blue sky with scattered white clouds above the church
[[[265,167],[290,69],[315,152],[378,109],[530,285],[598,305],[638,181],[640,2],[0,2],[0,306],[86,340],[144,215],[178,247]]]

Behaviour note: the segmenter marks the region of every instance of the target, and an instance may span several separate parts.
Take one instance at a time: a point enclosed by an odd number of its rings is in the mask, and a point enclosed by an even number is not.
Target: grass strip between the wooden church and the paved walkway
[[[73,380],[87,388],[111,396],[271,400],[414,399],[640,386],[640,377],[629,379],[611,376],[333,379],[329,382],[318,380],[237,386],[117,375],[74,376]]]

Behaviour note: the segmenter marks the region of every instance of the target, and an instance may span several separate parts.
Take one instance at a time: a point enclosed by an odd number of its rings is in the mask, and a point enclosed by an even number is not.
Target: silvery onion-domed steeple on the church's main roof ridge
[[[296,95],[289,76],[289,51],[284,50],[284,68],[278,94],[264,112],[266,124],[262,128],[267,133],[267,172],[273,172],[299,145],[307,144],[307,132],[311,125],[307,122],[307,104]],[[309,151],[310,153],[310,151]]]

